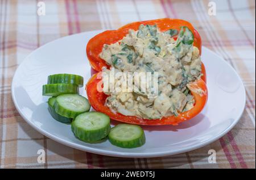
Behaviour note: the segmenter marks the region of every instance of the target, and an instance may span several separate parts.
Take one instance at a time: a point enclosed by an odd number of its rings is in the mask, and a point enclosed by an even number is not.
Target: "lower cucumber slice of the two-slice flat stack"
[[[56,96],[66,93],[79,93],[79,87],[72,85],[71,83],[55,83],[49,85],[43,85],[43,95]]]

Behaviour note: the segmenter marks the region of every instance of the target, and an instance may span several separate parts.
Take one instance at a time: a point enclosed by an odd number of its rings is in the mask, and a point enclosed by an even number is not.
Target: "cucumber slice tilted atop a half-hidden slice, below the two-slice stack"
[[[54,108],[57,114],[74,119],[82,112],[89,111],[90,104],[79,94],[61,94],[57,96]]]

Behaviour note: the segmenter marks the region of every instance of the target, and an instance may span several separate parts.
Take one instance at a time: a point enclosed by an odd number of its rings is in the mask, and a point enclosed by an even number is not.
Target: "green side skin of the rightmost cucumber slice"
[[[115,127],[113,127],[113,128],[115,128]],[[139,146],[142,146],[146,143],[146,136],[145,136],[143,130],[142,130],[142,132],[143,132],[142,136],[138,137],[137,139],[130,140],[130,141],[119,141],[112,137],[111,130],[110,130],[109,141],[111,144],[121,147],[121,148],[138,148]]]

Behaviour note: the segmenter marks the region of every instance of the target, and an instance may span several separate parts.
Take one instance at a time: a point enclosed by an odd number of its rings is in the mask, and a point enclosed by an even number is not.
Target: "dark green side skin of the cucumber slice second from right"
[[[90,113],[90,112],[86,112]],[[76,126],[76,119],[73,120],[71,123],[71,129],[74,135],[81,141],[84,141],[86,143],[95,143],[97,141],[100,141],[104,139],[106,136],[108,136],[109,131],[110,131],[110,120],[108,123],[107,128],[102,128],[102,129],[96,129],[96,130],[90,130],[86,131],[85,129],[81,127]]]

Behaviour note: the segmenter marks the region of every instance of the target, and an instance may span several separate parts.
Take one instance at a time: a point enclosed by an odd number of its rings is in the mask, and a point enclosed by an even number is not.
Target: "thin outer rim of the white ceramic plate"
[[[67,146],[69,146],[71,148],[75,148],[75,149],[79,149],[79,150],[82,150],[82,151],[85,151],[85,152],[89,152],[89,153],[101,154],[101,155],[104,155],[104,156],[112,156],[112,157],[150,158],[150,157],[171,156],[171,155],[180,154],[180,153],[184,153],[184,152],[189,152],[191,150],[199,149],[199,148],[201,148],[201,147],[203,147],[205,145],[213,143],[213,141],[216,141],[216,140],[220,139],[222,136],[224,136],[226,133],[228,133],[238,123],[238,121],[241,119],[241,116],[242,116],[242,114],[243,114],[243,112],[245,110],[245,105],[246,105],[246,91],[245,91],[245,86],[243,85],[243,82],[242,82],[242,78],[239,76],[239,74],[236,72],[236,70],[227,61],[224,60],[223,57],[221,57],[216,52],[214,52],[211,49],[209,49],[207,47],[204,47],[202,45],[202,49],[207,49],[207,51],[209,51],[210,53],[213,53],[214,55],[216,55],[218,58],[221,59],[221,61],[224,61],[224,63],[226,65],[228,65],[229,68],[231,68],[233,70],[233,72],[236,74],[236,76],[238,77],[239,81],[242,84],[242,91],[243,91],[243,109],[240,112],[240,115],[238,116],[238,118],[236,118],[234,120],[234,122],[232,124],[230,124],[229,127],[226,128],[224,131],[222,131],[218,136],[212,137],[209,140],[205,140],[203,143],[196,144],[196,145],[193,145],[193,146],[189,146],[187,148],[181,148],[181,149],[177,149],[177,150],[172,150],[172,151],[149,152],[149,153],[148,152],[144,152],[144,153],[134,153],[134,152],[123,152],[123,153],[121,153],[121,152],[118,152],[117,153],[117,152],[114,152],[113,150],[96,149],[96,148],[92,148],[92,147],[89,147],[89,146],[86,146],[86,145],[76,144],[76,143],[73,143],[72,141],[63,140],[60,137],[54,136],[51,133],[48,133],[47,131],[44,131],[43,129],[39,128],[34,123],[32,123],[30,120],[28,120],[25,117],[25,115],[23,114],[22,110],[20,110],[20,108],[18,106],[18,103],[16,102],[15,95],[14,95],[15,94],[14,79],[17,76],[16,74],[17,74],[18,69],[20,68],[20,66],[24,62],[28,61],[29,60],[28,57],[31,56],[33,53],[35,53],[36,51],[39,51],[39,49],[43,48],[44,46],[47,46],[48,44],[55,43],[55,41],[59,41],[59,40],[62,40],[62,39],[65,39],[65,38],[71,37],[71,36],[77,36],[77,35],[81,35],[81,34],[88,34],[90,32],[98,32],[98,33],[100,33],[102,31],[105,31],[105,30],[93,30],[93,31],[81,32],[79,34],[73,34],[73,35],[69,35],[69,36],[64,36],[64,37],[60,37],[59,39],[50,41],[50,42],[42,45],[41,47],[36,48],[34,51],[32,51],[30,54],[28,54],[24,58],[24,60],[16,68],[14,76],[13,76],[13,79],[12,79],[12,82],[11,82],[11,97],[13,99],[14,106],[15,106],[16,110],[19,112],[20,116],[22,116],[22,118],[26,121],[26,123],[31,125],[32,128],[36,129],[36,131],[42,133],[44,136],[47,136],[49,139],[57,141],[58,143],[67,145]]]

